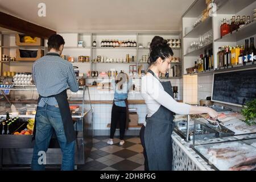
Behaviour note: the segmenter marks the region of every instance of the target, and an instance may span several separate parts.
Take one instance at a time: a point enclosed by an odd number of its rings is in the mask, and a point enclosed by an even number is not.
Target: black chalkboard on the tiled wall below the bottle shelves
[[[214,73],[212,101],[242,106],[256,98],[256,69]]]

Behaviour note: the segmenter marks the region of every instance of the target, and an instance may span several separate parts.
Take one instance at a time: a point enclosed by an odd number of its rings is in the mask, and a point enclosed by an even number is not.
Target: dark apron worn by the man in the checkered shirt
[[[59,55],[56,53],[47,53],[47,56],[59,56]],[[69,109],[67,90],[64,90],[63,92],[54,96],[42,97],[39,95],[38,103],[40,102],[41,98],[49,98],[49,97],[54,97],[59,106],[60,115],[63,121],[64,133],[67,138],[67,142],[68,143],[73,142],[76,139],[76,132],[75,132],[73,121],[72,121],[71,111]],[[33,140],[35,139],[35,136],[36,136],[36,120],[35,120],[35,126],[34,126],[33,138],[32,138]]]

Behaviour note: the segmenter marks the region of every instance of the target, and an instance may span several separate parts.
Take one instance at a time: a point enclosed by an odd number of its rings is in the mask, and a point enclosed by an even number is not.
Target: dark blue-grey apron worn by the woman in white
[[[148,72],[155,76],[151,70]],[[161,84],[164,90],[174,97],[171,82],[161,82]],[[156,113],[146,118],[144,139],[150,171],[172,170],[171,134],[174,129],[174,115],[172,111],[161,105]]]

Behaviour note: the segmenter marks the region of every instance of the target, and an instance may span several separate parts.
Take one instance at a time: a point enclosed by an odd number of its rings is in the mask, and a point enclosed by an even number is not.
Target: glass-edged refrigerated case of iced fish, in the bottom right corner
[[[199,143],[193,149],[216,170],[256,170],[256,134],[206,139]]]

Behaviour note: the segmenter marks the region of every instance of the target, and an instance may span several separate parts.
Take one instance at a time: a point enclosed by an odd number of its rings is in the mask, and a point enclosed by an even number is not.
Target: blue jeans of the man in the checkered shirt
[[[40,151],[46,152],[48,150],[53,130],[55,130],[63,154],[61,170],[71,171],[74,169],[75,141],[67,143],[59,107],[46,104],[44,107],[38,107],[36,113],[36,136],[31,162],[32,170],[41,171],[45,169],[44,164],[41,164],[42,160],[39,160],[39,157],[42,156]]]

